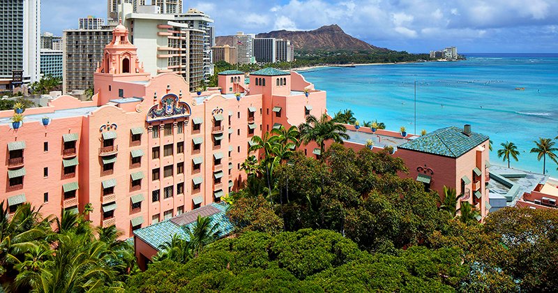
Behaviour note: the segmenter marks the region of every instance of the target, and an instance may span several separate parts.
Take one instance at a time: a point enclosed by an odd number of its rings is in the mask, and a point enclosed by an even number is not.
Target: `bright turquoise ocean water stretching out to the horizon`
[[[303,75],[327,91],[330,114],[351,109],[359,121],[377,119],[409,133],[415,129],[416,80],[416,133],[469,123],[493,141],[492,163],[507,164],[496,151],[509,141],[520,151],[511,167],[543,172],[542,159],[529,151],[538,137],[558,136],[558,54],[465,56],[458,62],[317,68]],[[547,158],[548,174],[558,177],[557,167]]]

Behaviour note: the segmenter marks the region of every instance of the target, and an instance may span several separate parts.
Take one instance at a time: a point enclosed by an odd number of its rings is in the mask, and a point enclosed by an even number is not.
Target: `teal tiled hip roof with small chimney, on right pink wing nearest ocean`
[[[488,140],[488,136],[480,133],[465,135],[461,128],[454,126],[441,128],[398,146],[398,149],[409,149],[439,156],[459,158],[467,151]]]

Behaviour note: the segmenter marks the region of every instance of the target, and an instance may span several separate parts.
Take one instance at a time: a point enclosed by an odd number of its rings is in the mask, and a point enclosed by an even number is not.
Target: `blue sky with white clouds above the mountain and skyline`
[[[149,0],[148,0],[149,2]],[[217,35],[310,30],[338,24],[372,45],[428,52],[558,53],[558,0],[183,1],[208,13]],[[57,35],[86,15],[106,17],[105,0],[43,0],[42,31]]]

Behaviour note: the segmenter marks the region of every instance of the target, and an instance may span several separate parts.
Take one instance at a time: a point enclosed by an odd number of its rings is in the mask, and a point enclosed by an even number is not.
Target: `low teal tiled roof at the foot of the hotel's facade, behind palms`
[[[144,241],[149,246],[158,250],[163,243],[169,242],[174,235],[179,236],[181,239],[189,240],[188,230],[195,227],[195,219],[199,215],[211,218],[210,225],[218,224],[218,238],[223,238],[234,230],[234,226],[229,218],[227,218],[226,211],[226,204],[213,203],[175,216],[170,220],[163,220],[159,223],[140,228],[133,233],[139,241]],[[184,224],[179,225],[179,223]]]

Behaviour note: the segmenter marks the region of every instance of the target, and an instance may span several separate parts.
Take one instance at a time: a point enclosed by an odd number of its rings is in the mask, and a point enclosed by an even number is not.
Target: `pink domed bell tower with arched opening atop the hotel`
[[[103,61],[98,64],[96,73],[110,75],[133,75],[144,73],[143,64],[137,59],[137,47],[128,40],[128,29],[122,20],[112,30],[112,41],[105,46]]]

